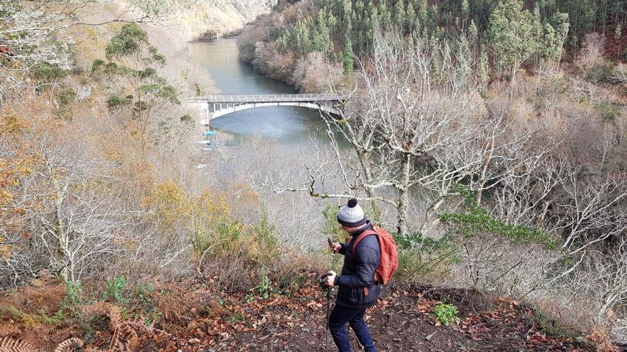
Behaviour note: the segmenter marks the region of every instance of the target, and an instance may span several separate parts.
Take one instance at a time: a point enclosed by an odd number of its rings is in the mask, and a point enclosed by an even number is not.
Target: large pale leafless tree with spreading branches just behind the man
[[[325,116],[336,167],[329,168],[328,160],[308,164],[306,187],[283,190],[388,204],[398,214],[396,230],[406,235],[412,192],[419,189],[428,197],[428,223],[457,194],[458,183],[482,174],[482,181],[468,183],[482,187],[487,176],[482,169],[507,119],[487,111],[472,62],[461,60],[464,52],[457,45],[378,35],[348,105],[339,117]],[[352,150],[343,148],[343,141]],[[321,180],[330,171],[341,184],[325,187]]]

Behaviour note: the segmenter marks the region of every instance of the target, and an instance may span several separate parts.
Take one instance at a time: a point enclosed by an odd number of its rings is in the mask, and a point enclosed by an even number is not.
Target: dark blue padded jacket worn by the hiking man
[[[379,265],[381,252],[376,235],[368,235],[358,242],[355,248],[355,257],[351,248],[355,239],[365,230],[371,229],[371,223],[353,233],[351,242],[341,243],[340,254],[344,255],[342,274],[336,277],[338,286],[338,304],[349,308],[368,308],[377,301],[381,286],[375,283],[375,271]],[[366,295],[367,288],[368,294]]]

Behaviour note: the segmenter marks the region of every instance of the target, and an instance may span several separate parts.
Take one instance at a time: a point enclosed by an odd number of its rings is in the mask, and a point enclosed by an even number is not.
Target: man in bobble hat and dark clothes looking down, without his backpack
[[[338,287],[338,298],[328,319],[328,329],[340,352],[351,352],[346,323],[351,325],[366,352],[376,352],[363,314],[375,304],[381,289],[374,280],[380,260],[379,242],[377,236],[368,235],[357,243],[354,251],[351,250],[358,235],[371,229],[371,223],[366,221],[356,199],[349,200],[346,206],[340,208],[338,222],[352,238],[348,243],[333,243],[331,246],[333,253],[344,255],[344,266],[341,276],[330,271],[327,277],[328,286]]]

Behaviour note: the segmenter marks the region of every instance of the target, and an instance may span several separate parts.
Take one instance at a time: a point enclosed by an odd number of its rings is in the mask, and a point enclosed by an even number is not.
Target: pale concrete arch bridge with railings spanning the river
[[[200,119],[208,125],[217,117],[254,107],[309,107],[339,114],[338,106],[346,99],[346,96],[336,94],[209,95],[186,100],[186,102],[199,109]]]

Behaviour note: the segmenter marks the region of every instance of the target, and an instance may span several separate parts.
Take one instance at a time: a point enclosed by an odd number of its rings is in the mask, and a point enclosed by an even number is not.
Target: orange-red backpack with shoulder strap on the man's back
[[[381,284],[387,284],[392,278],[392,275],[398,267],[398,252],[396,251],[396,242],[388,231],[378,226],[372,225],[372,230],[363,231],[357,236],[353,247],[351,248],[351,254],[355,257],[355,248],[359,241],[369,235],[376,235],[379,241],[379,248],[381,250],[381,259],[377,271],[375,272],[375,281]],[[366,293],[367,294],[367,293]]]

